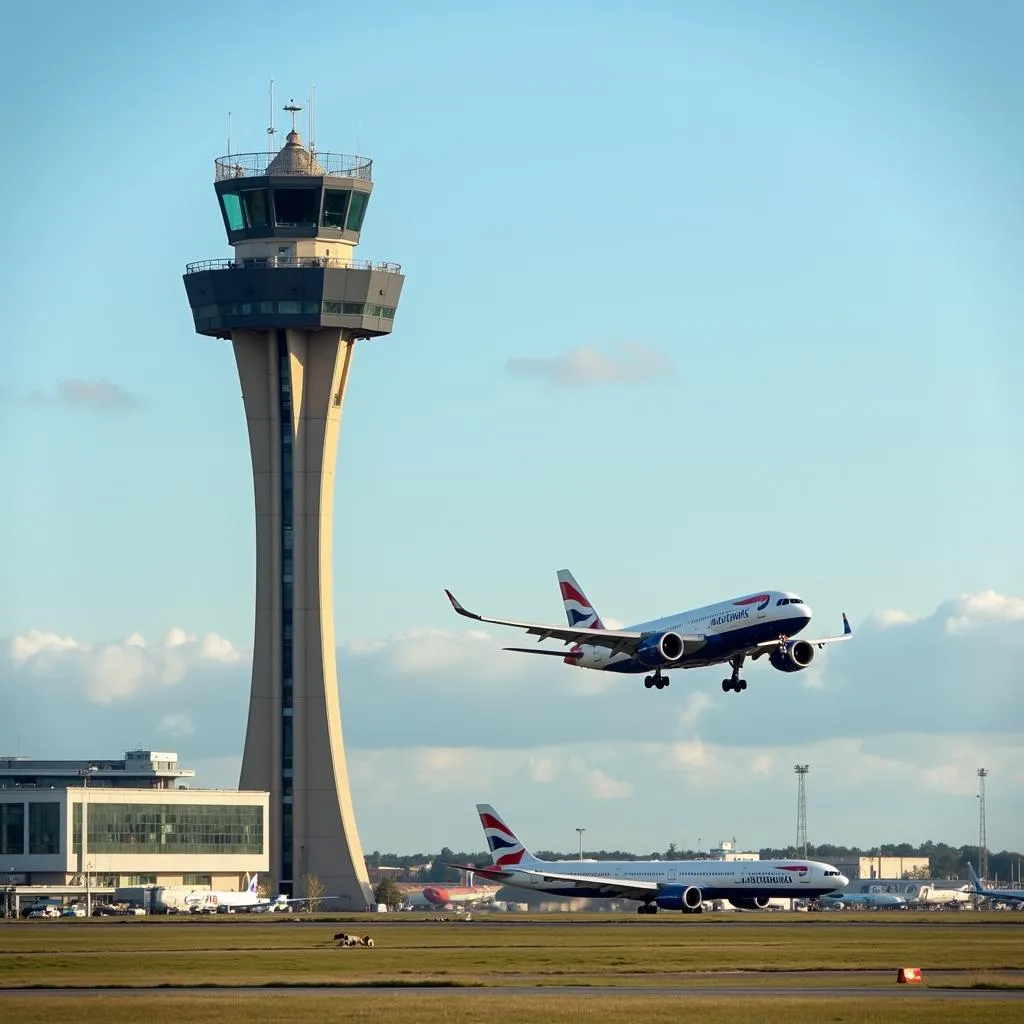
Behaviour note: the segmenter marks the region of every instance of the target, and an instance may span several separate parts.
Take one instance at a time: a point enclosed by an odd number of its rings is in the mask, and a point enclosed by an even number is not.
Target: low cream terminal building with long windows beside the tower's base
[[[195,774],[153,751],[0,758],[0,884],[244,888],[269,868],[269,795],[175,785]]]

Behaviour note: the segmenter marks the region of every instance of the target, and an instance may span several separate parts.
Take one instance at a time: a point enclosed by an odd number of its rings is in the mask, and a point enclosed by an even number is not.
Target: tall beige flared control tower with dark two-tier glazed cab
[[[269,883],[373,902],[341,733],[331,591],[334,468],[352,353],[390,334],[403,278],[353,258],[371,161],[306,148],[215,161],[233,259],[189,263],[196,330],[234,349],[256,499],[256,628],[241,790],[270,793]],[[272,135],[271,135],[272,138]]]

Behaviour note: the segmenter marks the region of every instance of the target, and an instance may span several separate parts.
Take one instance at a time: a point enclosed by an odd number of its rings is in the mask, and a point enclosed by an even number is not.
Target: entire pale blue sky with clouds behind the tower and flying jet
[[[812,842],[976,841],[984,765],[989,843],[1024,849],[1019,5],[8,24],[0,753],[170,748],[237,783],[248,439],[181,274],[229,254],[213,160],[228,113],[263,147],[272,77],[279,129],[315,86],[317,146],[373,158],[358,255],[406,274],[338,460],[365,848],[479,849],[478,801],[538,848],[784,845],[800,761]],[[561,567],[606,620],[769,588],[857,636],[652,692],[502,653],[442,593],[559,623]]]

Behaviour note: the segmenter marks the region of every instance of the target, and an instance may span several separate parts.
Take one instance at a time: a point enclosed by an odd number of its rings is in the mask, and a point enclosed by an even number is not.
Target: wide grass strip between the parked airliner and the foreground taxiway
[[[375,948],[341,949],[335,932],[371,934]],[[943,983],[1024,984],[1024,915],[871,914],[730,919],[659,915],[587,922],[350,924],[252,919],[96,919],[0,924],[0,987],[447,983],[686,986],[699,983],[890,983],[901,966],[944,972]],[[862,975],[857,972],[889,972]],[[945,974],[949,972],[948,974]],[[936,979],[937,980],[937,979]],[[843,982],[846,984],[846,982]]]

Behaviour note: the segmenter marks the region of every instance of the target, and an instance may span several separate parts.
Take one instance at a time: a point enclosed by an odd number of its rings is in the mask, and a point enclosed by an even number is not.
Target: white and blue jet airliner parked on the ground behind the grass
[[[739,910],[763,910],[773,897],[813,899],[849,879],[816,860],[538,860],[489,804],[477,804],[492,867],[450,864],[484,879],[552,896],[639,900],[637,913],[700,913],[727,899]]]

